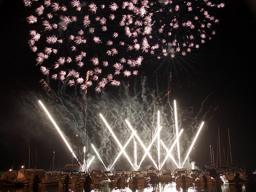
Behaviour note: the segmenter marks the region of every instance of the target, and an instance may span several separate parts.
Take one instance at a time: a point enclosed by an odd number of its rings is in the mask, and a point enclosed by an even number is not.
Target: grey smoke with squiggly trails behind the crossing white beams
[[[165,95],[165,91],[162,93],[158,92],[158,95],[154,95],[152,94],[154,92],[148,88],[147,83],[147,79],[144,78],[141,80],[141,84],[136,84],[136,86],[130,90],[134,93],[134,96],[123,94],[127,92],[127,90],[125,90],[125,86],[120,86],[118,93],[113,94],[105,92],[96,98],[89,97],[87,103],[84,103],[82,99],[79,99],[83,98],[82,91],[76,93],[76,100],[74,100],[74,98],[70,98],[70,95],[66,90],[67,87],[61,86],[61,89],[56,92],[56,95],[61,95],[61,98],[58,98],[58,102],[52,103],[51,101],[44,101],[44,103],[47,105],[46,108],[51,109],[51,113],[55,113],[54,119],[56,123],[57,119],[59,120],[57,124],[66,135],[70,135],[71,130],[74,129],[75,134],[80,135],[82,145],[84,145],[84,136],[87,132],[87,146],[91,146],[91,144],[93,144],[100,154],[102,161],[107,167],[110,167],[117,157],[120,147],[117,145],[112,134],[99,116],[100,113],[104,118],[106,118],[106,121],[110,125],[110,128],[113,130],[122,146],[127,143],[132,135],[131,129],[129,129],[127,126],[125,119],[131,123],[144,145],[146,147],[149,146],[151,142],[150,124],[152,124],[153,136],[157,133],[158,110],[160,111],[160,126],[162,126],[162,130],[160,132],[161,140],[163,140],[167,148],[170,148],[176,139],[173,109],[169,106],[166,100],[163,102],[161,101],[162,97]],[[47,104],[48,102],[51,102],[52,104],[49,105]],[[173,106],[173,104],[171,106]],[[208,108],[207,106],[204,106],[204,108],[197,114],[194,114],[192,108],[189,110],[181,110],[179,107],[180,105],[178,102],[179,130],[182,128],[184,129],[180,139],[181,159],[183,161],[201,121],[205,119],[204,114],[206,114],[209,106]],[[127,152],[133,165],[135,165],[135,157],[133,157],[135,145],[134,142],[136,142],[136,137],[133,137],[131,142],[129,142],[125,148],[125,151]],[[144,150],[138,141],[137,148],[138,150],[136,152],[139,164],[141,160],[140,158],[144,155]],[[88,147],[88,151],[91,154],[95,154],[93,149],[90,147]],[[161,151],[165,153],[164,148],[161,148]],[[149,152],[151,153],[151,150]],[[163,160],[163,156],[167,154],[160,155],[160,158]],[[177,161],[177,149],[174,148],[172,155]],[[83,157],[82,154],[77,156]],[[153,144],[152,156],[155,162],[157,162],[156,143]],[[112,169],[123,166],[124,163],[122,162],[124,161],[124,155],[121,155]],[[141,167],[146,168],[148,165],[151,165],[151,161],[148,157],[146,157]],[[102,167],[99,161],[94,162],[94,166]]]

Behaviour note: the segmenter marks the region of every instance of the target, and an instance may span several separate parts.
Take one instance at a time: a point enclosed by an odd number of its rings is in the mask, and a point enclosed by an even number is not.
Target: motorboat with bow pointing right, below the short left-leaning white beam
[[[91,188],[108,185],[110,179],[106,174],[100,169],[94,169],[90,173],[91,176]]]

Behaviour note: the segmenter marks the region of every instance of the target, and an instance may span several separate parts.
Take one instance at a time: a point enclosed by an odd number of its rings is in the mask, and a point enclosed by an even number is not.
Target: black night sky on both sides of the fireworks
[[[195,146],[198,166],[207,163],[205,159],[209,159],[210,145],[217,149],[218,126],[222,148],[227,150],[229,127],[233,164],[247,167],[250,174],[256,169],[255,5],[247,1],[223,2],[225,8],[216,13],[220,20],[217,35],[201,53],[201,50],[198,52],[196,63],[199,65],[194,67],[199,72],[189,71],[187,76],[174,73],[171,97],[182,105],[182,109],[193,106],[195,111],[199,111],[202,103],[208,108],[217,108],[207,114],[207,128]],[[37,143],[42,169],[49,169],[53,151],[56,151],[55,161],[60,162],[61,167],[71,159],[71,155],[67,157],[68,150],[59,135],[54,128],[50,128],[48,119],[41,119],[44,113],[36,115],[41,110],[38,99],[42,98],[45,102],[52,100],[39,84],[43,77],[35,66],[35,55],[27,46],[29,32],[26,16],[21,1],[0,1],[0,171],[9,169],[13,163],[15,169],[24,163],[27,165],[29,142],[33,155]],[[207,97],[209,99],[204,103]],[[56,106],[54,109],[61,108],[60,103],[53,105]],[[68,115],[65,116],[63,126],[69,122],[68,118]],[[71,139],[71,133],[66,134]]]

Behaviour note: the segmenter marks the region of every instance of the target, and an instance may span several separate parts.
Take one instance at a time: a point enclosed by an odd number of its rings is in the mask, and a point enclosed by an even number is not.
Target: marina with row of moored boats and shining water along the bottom
[[[214,168],[209,168],[210,171],[213,172]],[[108,176],[101,170],[92,170],[90,173],[91,180],[89,181],[90,184],[88,185],[88,181],[86,175],[84,173],[60,173],[59,176],[56,176],[57,172],[47,172],[46,175],[48,177],[52,177],[53,180],[57,180],[58,182],[53,182],[52,184],[45,185],[45,181],[47,181],[47,177],[40,178],[38,182],[37,190],[34,190],[35,176],[32,174],[32,178],[34,177],[33,181],[31,181],[31,177],[29,177],[30,181],[27,182],[27,179],[24,176],[23,181],[19,179],[19,184],[17,184],[17,178],[8,180],[8,184],[3,182],[4,176],[0,177],[0,191],[1,192],[31,192],[31,191],[38,191],[38,192],[182,192],[182,191],[189,191],[189,192],[199,192],[199,191],[207,191],[207,192],[253,192],[256,189],[256,176],[254,174],[246,175],[246,180],[239,180],[239,182],[230,182],[230,177],[225,177],[225,174],[218,174],[217,176],[212,175],[210,176],[210,172],[207,173],[206,168],[203,169],[200,176],[194,179],[190,172],[185,169],[176,169],[174,171],[170,171],[171,177],[173,181],[164,181],[166,175],[163,173],[159,174],[159,180],[155,182],[149,182],[150,177],[146,176],[143,171],[132,171],[132,172],[124,172],[123,170],[117,170],[114,172],[115,174],[109,174]],[[169,172],[168,171],[168,172]],[[231,171],[231,170],[230,170]],[[19,173],[22,171],[19,171]],[[24,170],[24,172],[28,172]],[[34,173],[41,173],[42,170],[38,170],[38,172]],[[145,170],[147,172],[147,170]],[[216,172],[216,171],[215,171]],[[46,173],[46,172],[45,172]],[[53,173],[55,176],[53,176]],[[121,173],[121,174],[120,174]],[[234,172],[233,172],[234,173]],[[123,175],[122,175],[123,174]],[[10,174],[9,175],[15,175]],[[28,174],[26,174],[28,175]],[[76,175],[76,176],[75,176]],[[165,179],[161,180],[161,176],[164,176]],[[18,176],[18,174],[17,174]],[[41,173],[42,176],[42,173]],[[69,178],[67,185],[65,182],[67,177]],[[206,176],[206,180],[203,178]],[[135,178],[137,183],[135,182]],[[110,179],[111,178],[111,179]],[[118,180],[122,178],[122,181],[118,183]],[[223,179],[224,178],[224,179]],[[227,179],[228,178],[228,179]],[[233,174],[233,179],[236,178],[236,174]],[[196,182],[197,180],[200,182]],[[63,181],[65,180],[65,181]],[[5,180],[7,183],[7,180]],[[162,182],[161,182],[162,181]],[[226,182],[225,182],[226,181]],[[10,183],[13,182],[11,185]],[[89,187],[88,187],[89,186]]]

